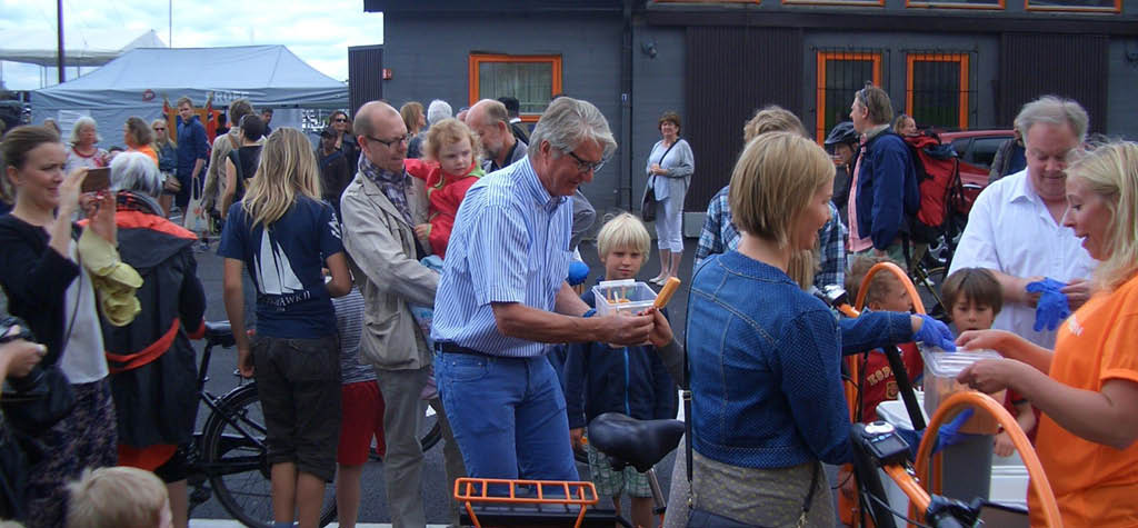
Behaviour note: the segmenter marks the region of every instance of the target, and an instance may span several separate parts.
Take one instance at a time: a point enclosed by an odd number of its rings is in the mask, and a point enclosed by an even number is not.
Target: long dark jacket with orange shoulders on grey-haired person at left
[[[193,432],[197,369],[190,339],[205,332],[205,290],[197,278],[197,237],[160,216],[150,198],[119,191],[115,222],[123,262],[142,275],[133,322],[102,322],[118,443],[176,445]]]

